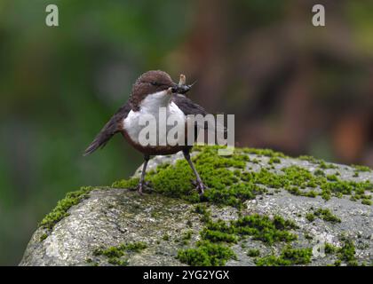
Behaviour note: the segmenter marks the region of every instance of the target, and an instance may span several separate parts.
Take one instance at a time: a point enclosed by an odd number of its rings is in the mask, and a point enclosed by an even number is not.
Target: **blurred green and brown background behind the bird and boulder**
[[[65,193],[139,166],[119,136],[82,152],[149,69],[198,80],[237,146],[373,166],[372,35],[372,1],[0,0],[0,264]]]

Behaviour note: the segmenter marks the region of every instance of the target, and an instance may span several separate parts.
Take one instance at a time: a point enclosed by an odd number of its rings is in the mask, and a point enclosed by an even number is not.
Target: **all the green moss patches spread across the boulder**
[[[209,187],[202,200],[191,182],[194,179],[193,172],[184,160],[179,160],[175,164],[163,163],[157,169],[150,170],[147,173],[147,181],[152,184],[156,193],[198,203],[194,207],[194,212],[201,214],[204,223],[200,232],[202,241],[197,242],[195,248],[179,251],[178,257],[184,263],[225,264],[227,259],[234,257],[229,245],[247,235],[268,244],[277,241],[290,242],[297,239],[297,236],[289,231],[297,226],[282,217],[269,218],[251,215],[240,216],[231,222],[221,220],[213,222],[210,210],[206,206],[208,203],[200,203],[201,201],[242,208],[244,201],[256,198],[259,194],[267,193],[266,188],[269,187],[277,192],[285,189],[290,193],[308,197],[321,195],[325,200],[329,200],[331,196],[340,197],[343,194],[350,194],[353,195],[354,200],[361,200],[364,204],[370,204],[369,195],[365,194],[365,191],[371,191],[373,185],[369,181],[343,181],[337,177],[337,174],[326,176],[321,169],[337,168],[332,164],[311,157],[300,157],[302,160],[319,164],[320,169],[311,172],[302,167],[290,166],[283,168],[281,172],[274,172],[271,170],[274,169],[274,166],[271,165],[268,169],[261,168],[254,172],[247,170],[250,169],[250,163],[262,161],[257,158],[250,158],[248,154],[269,157],[270,164],[281,162],[280,158],[286,156],[272,150],[251,148],[236,148],[231,156],[219,156],[218,148],[218,146],[194,147],[194,151],[197,152],[193,157],[194,165],[205,185]],[[115,182],[113,187],[134,188],[138,183],[138,177],[131,177],[127,180]],[[321,192],[316,191],[316,188],[321,188]],[[40,225],[52,229],[52,226],[61,218],[67,216],[67,209],[86,198],[91,189],[91,187],[83,187],[78,192],[68,193],[67,197],[59,202],[56,209],[53,209]],[[332,215],[330,211],[325,211],[325,209],[316,210],[313,212],[313,217],[321,217],[329,222],[340,222],[339,218]],[[188,222],[191,225],[190,220]],[[186,233],[182,235],[181,239],[187,241],[190,237],[191,234]],[[167,234],[163,236],[164,241],[169,241],[169,239],[170,237]],[[133,251],[136,251],[136,249],[134,247]],[[304,252],[291,249],[293,248],[282,251],[281,256],[265,256],[259,259],[258,263],[300,264],[302,261],[299,259],[306,258],[302,256]],[[125,252],[128,253],[129,250],[131,249],[127,246],[107,248],[101,251],[101,256],[107,256],[112,264],[125,264],[126,260],[123,257]],[[342,256],[345,257],[342,250],[340,255],[341,258]]]

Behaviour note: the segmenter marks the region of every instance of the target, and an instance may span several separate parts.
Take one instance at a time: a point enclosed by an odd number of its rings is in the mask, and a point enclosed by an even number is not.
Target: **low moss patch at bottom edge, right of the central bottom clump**
[[[258,258],[258,266],[285,266],[294,264],[311,263],[312,248],[291,248],[286,247],[280,256],[265,256]]]

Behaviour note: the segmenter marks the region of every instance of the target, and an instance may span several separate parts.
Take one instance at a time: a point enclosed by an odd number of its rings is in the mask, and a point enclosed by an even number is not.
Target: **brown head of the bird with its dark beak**
[[[140,75],[133,84],[130,102],[134,109],[139,109],[139,103],[147,98],[147,95],[154,94],[160,91],[167,91],[169,95],[172,93],[186,93],[190,90],[188,86],[181,86],[174,83],[171,76],[161,70],[147,71]]]

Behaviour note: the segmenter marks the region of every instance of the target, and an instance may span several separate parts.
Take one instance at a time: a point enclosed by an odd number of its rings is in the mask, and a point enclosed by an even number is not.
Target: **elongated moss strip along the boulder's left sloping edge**
[[[48,230],[52,230],[53,226],[56,225],[62,218],[67,217],[67,210],[72,206],[78,204],[83,199],[88,198],[89,193],[94,187],[87,186],[81,187],[80,190],[67,193],[66,197],[57,203],[57,206],[52,209],[52,212],[44,217],[42,222],[39,223],[39,227],[43,227]]]

